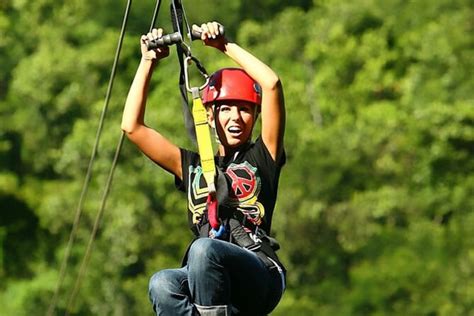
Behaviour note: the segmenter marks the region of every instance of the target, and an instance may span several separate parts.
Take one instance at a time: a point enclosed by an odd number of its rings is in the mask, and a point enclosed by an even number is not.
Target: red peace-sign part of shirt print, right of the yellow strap
[[[261,181],[257,168],[247,161],[240,164],[230,164],[226,174],[232,180],[233,204],[252,224],[260,225],[265,215],[265,208],[257,198],[261,190]]]

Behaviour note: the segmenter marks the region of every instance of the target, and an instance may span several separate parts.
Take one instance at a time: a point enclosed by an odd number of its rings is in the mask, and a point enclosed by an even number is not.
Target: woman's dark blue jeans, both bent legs
[[[150,279],[149,296],[156,315],[265,315],[280,301],[283,284],[277,269],[232,243],[197,239],[187,265],[166,269]]]

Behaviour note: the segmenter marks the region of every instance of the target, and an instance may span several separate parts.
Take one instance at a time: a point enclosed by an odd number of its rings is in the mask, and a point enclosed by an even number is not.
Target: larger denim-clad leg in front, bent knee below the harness
[[[188,253],[187,268],[198,309],[226,306],[229,313],[233,305],[242,315],[262,315],[281,296],[278,273],[269,272],[255,253],[222,240],[196,240]]]

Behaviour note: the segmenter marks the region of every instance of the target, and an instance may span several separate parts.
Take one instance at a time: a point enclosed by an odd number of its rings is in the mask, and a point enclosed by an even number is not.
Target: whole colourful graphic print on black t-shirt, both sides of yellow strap
[[[257,168],[248,162],[232,163],[225,173],[231,180],[231,205],[242,212],[249,222],[257,226],[260,225],[265,215],[265,208],[257,200],[261,190],[261,180]],[[197,224],[206,210],[208,194],[201,166],[189,166],[188,181],[190,184],[188,210],[193,214],[193,224]]]

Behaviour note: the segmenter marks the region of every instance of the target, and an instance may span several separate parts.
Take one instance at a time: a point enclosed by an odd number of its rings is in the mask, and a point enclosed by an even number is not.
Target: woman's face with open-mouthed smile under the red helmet
[[[252,136],[255,123],[255,105],[246,101],[225,101],[215,105],[209,113],[211,126],[217,129],[224,148],[236,148],[245,144]],[[217,116],[217,120],[214,120]]]

